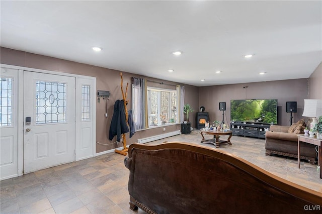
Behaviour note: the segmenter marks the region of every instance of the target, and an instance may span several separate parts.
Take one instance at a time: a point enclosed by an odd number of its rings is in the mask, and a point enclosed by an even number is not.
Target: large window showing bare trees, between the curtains
[[[147,88],[147,108],[149,127],[177,121],[177,91]]]

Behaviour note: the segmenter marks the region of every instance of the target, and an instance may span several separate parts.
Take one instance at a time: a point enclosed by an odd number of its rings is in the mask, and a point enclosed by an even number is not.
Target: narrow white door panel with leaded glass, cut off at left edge
[[[18,176],[18,70],[1,68],[0,175]]]

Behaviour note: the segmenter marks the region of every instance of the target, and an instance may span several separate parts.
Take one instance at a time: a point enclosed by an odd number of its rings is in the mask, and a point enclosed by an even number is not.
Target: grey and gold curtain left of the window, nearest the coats
[[[133,77],[132,109],[136,130],[146,129],[147,125],[147,93],[146,79]]]

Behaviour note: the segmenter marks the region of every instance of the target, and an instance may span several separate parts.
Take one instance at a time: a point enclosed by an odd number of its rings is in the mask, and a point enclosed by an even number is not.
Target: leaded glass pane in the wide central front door
[[[67,85],[36,81],[36,124],[65,123]]]

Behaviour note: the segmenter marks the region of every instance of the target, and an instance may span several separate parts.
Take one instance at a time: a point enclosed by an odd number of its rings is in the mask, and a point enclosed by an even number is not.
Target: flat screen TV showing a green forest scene
[[[277,99],[231,99],[230,120],[277,124]]]

